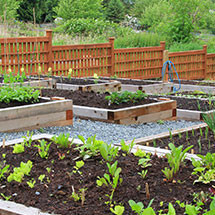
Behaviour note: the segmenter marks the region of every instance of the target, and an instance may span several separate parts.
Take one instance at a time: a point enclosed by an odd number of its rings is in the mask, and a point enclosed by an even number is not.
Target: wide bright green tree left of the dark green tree
[[[59,0],[55,12],[64,20],[103,17],[102,0]]]

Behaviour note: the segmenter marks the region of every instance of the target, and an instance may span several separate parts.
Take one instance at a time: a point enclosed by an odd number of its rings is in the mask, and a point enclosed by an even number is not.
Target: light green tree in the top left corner
[[[15,19],[21,0],[0,0],[0,17],[2,20]]]

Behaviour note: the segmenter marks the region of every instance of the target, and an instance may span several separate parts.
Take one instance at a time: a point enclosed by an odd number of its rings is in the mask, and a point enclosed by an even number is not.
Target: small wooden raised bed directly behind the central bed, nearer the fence
[[[121,83],[119,81],[106,81],[97,79],[84,78],[56,78],[56,89],[65,90],[80,90],[80,91],[94,91],[94,92],[117,92],[121,90]]]

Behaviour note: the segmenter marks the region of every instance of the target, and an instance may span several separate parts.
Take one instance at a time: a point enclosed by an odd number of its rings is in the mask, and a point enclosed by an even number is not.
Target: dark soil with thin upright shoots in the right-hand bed
[[[174,143],[175,146],[183,145],[183,148],[193,145],[195,154],[206,155],[207,152],[215,153],[215,135],[209,130],[208,134],[206,129],[202,130],[202,136],[200,130],[189,131],[182,133],[182,135],[175,135],[171,138],[161,138],[156,141],[151,142],[150,146],[166,148],[168,149],[169,143]]]

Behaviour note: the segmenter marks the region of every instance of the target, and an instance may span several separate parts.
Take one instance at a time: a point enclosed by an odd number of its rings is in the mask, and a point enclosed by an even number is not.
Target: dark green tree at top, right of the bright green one
[[[106,8],[106,18],[109,21],[120,23],[125,16],[125,8],[120,0],[110,0]]]

